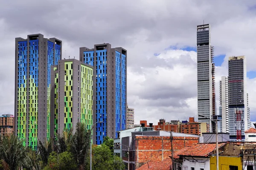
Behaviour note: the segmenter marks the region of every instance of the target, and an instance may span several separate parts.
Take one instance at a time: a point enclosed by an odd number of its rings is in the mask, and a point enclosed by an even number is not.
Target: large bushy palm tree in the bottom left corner
[[[26,147],[23,146],[23,140],[18,139],[14,134],[2,137],[0,139],[0,159],[9,170],[24,167]]]

